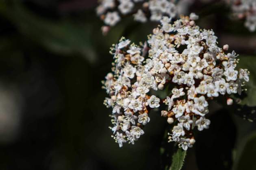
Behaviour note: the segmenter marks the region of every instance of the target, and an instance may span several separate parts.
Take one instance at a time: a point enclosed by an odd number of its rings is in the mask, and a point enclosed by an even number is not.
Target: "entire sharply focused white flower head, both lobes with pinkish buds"
[[[117,129],[122,130],[123,120],[126,117],[130,119],[137,111],[139,117],[147,116],[143,120],[148,122],[148,108],[158,107],[160,99],[146,94],[150,89],[167,89],[166,98],[161,102],[167,105],[167,109],[161,111],[161,116],[166,117],[169,124],[175,124],[169,132],[169,141],[175,141],[187,150],[195,143],[194,127],[202,131],[210,125],[210,120],[206,119],[208,101],[223,96],[230,105],[230,95],[241,94],[245,90],[249,72],[247,69],[236,70],[238,55],[234,51],[227,53],[228,45],[218,47],[213,30],[200,29],[194,21],[197,18],[191,14],[171,23],[171,18],[163,17],[161,26],[148,36],[149,50],[144,62],[146,56],[140,55],[138,46],[129,46],[129,40],[121,39],[119,45],[115,45],[115,76],[108,74],[104,82],[104,88],[111,95],[110,99],[106,99],[106,105],[113,106],[113,113],[117,110],[121,113],[112,115],[114,133]],[[130,79],[135,75],[136,81],[131,85]],[[136,133],[143,134],[140,126],[132,126],[132,129],[137,128]],[[132,129],[127,131],[129,127],[123,130],[126,136],[117,133],[114,137],[119,144],[126,141],[133,143],[137,139]]]

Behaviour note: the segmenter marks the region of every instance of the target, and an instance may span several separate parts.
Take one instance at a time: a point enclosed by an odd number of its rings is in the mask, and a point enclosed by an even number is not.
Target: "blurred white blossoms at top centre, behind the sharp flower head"
[[[96,12],[106,24],[102,26],[106,34],[122,17],[132,15],[135,21],[142,23],[160,21],[163,16],[174,18],[177,13],[187,11],[190,1],[180,0],[177,4],[175,0],[100,0]]]

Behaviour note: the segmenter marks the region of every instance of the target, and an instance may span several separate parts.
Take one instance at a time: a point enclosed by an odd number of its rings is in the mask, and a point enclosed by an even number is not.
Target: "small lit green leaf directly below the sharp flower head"
[[[172,156],[172,164],[169,170],[181,170],[187,151],[179,148]]]

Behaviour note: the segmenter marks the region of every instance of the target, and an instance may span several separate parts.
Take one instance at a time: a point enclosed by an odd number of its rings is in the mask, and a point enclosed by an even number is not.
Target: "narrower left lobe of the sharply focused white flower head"
[[[132,143],[144,134],[143,126],[150,121],[148,112],[160,106],[160,99],[148,96],[151,88],[156,89],[156,82],[151,74],[143,72],[144,57],[142,49],[130,40],[121,38],[119,44],[111,48],[114,55],[113,73],[108,73],[103,88],[110,98],[104,104],[113,108],[113,138],[122,147],[124,142]]]

